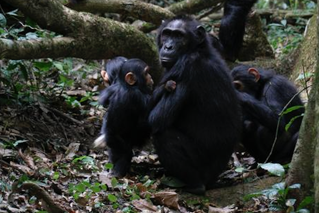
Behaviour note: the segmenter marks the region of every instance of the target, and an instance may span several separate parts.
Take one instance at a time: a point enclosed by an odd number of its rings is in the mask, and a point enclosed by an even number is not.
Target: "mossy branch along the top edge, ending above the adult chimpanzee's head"
[[[120,13],[154,24],[160,24],[162,19],[174,16],[167,9],[140,0],[85,0],[68,6],[78,11]]]

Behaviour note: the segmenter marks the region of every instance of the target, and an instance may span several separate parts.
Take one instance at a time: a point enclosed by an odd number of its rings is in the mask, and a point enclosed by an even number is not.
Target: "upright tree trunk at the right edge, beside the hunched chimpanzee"
[[[318,15],[317,25],[318,28]],[[318,34],[318,29],[317,29]],[[317,38],[318,39],[318,38]],[[317,42],[317,69],[310,92],[299,139],[291,162],[286,184],[300,183],[300,192],[293,192],[298,204],[315,189],[315,213],[319,213],[319,42]]]

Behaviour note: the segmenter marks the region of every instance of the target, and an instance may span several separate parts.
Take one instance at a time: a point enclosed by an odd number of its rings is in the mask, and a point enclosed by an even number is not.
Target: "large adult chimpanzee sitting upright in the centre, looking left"
[[[167,20],[157,41],[165,72],[149,115],[154,145],[167,173],[183,181],[188,192],[203,194],[240,137],[239,101],[227,66],[198,21]],[[171,80],[175,89],[164,92]]]

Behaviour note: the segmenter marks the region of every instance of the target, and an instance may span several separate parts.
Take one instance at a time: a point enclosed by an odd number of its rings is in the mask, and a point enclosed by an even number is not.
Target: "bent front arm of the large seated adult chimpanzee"
[[[164,93],[162,90],[157,92]],[[154,105],[155,107],[149,115],[149,122],[153,128],[153,132],[158,132],[171,126],[187,98],[186,86],[178,84],[174,91],[164,93],[162,96],[156,98],[158,98],[158,103]]]

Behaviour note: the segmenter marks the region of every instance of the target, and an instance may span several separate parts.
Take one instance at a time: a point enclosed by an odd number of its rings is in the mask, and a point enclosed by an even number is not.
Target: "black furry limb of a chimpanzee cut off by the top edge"
[[[257,0],[226,0],[219,28],[220,43],[213,43],[226,59],[234,61],[242,47],[247,15]],[[216,38],[212,39],[213,41]]]

